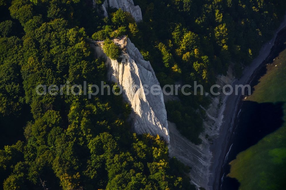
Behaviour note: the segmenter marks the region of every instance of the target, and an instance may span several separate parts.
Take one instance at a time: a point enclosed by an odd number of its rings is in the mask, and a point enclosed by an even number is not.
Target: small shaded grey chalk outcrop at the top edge
[[[94,2],[94,7],[96,7],[96,3]],[[123,11],[129,12],[132,17],[135,19],[136,23],[142,21],[142,12],[138,5],[134,5],[133,0],[105,0],[101,5],[100,9],[102,9],[105,17],[108,17],[107,9],[108,7],[122,9]]]

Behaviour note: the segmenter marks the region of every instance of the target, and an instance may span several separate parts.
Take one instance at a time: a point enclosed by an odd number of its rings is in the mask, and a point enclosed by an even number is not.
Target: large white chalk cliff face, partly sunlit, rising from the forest
[[[159,135],[168,143],[170,141],[167,113],[163,92],[149,61],[144,60],[139,50],[127,39],[116,41],[125,49],[118,60],[107,58],[107,78],[123,87],[123,97],[130,103],[132,113],[130,121],[138,134],[150,133]],[[102,48],[94,47],[96,53],[102,55]],[[157,95],[151,93],[151,87],[158,89]],[[145,90],[145,92],[144,92]],[[147,93],[149,92],[149,93]]]

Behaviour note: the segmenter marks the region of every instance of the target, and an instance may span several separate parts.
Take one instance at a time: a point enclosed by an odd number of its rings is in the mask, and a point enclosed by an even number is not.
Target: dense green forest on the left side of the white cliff
[[[121,96],[35,93],[38,84],[104,81],[86,37],[108,27],[90,3],[1,1],[3,189],[192,188],[190,168],[168,158],[159,136],[132,134]]]

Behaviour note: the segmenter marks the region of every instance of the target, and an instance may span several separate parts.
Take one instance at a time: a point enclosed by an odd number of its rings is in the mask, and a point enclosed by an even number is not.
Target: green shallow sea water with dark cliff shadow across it
[[[286,50],[279,53],[253,94],[243,102],[234,142],[240,152],[230,162],[233,189],[285,189],[286,186]],[[236,185],[235,185],[236,184]],[[228,189],[232,183],[228,184]]]

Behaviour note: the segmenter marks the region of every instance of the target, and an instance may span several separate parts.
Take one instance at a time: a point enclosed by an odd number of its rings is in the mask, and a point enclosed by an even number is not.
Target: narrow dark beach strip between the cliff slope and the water
[[[236,84],[246,85],[250,84],[253,81],[253,79],[257,76],[257,73],[259,72],[260,68],[264,65],[263,63],[265,63],[265,61],[273,53],[273,47],[275,47],[277,37],[279,33],[283,29],[285,29],[285,27],[286,15],[284,16],[284,21],[281,23],[280,27],[274,32],[274,37],[262,46],[259,55],[253,60],[253,62],[249,66],[244,68],[242,77],[235,80],[232,86]],[[223,112],[224,121],[220,128],[221,134],[218,138],[214,140],[213,145],[210,146],[210,150],[212,152],[210,166],[211,175],[209,175],[207,189],[219,189],[219,185],[221,184],[221,172],[223,169],[225,156],[230,147],[229,143],[233,134],[235,126],[234,124],[237,119],[239,107],[241,107],[242,97],[242,95],[235,96],[234,94],[232,94],[231,96],[227,97],[227,100],[225,102],[225,110]]]

